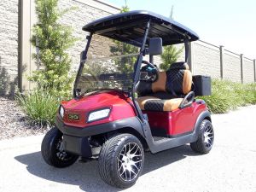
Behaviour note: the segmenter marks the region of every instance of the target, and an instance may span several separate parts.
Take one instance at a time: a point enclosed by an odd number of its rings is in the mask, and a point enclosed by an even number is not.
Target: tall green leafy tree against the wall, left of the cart
[[[72,36],[70,26],[58,22],[70,10],[58,9],[58,1],[36,0],[38,22],[32,28],[32,44],[38,49],[33,57],[39,70],[29,79],[38,83],[40,89],[64,94],[71,89],[73,82],[73,77],[68,74],[72,61],[67,49],[78,39]]]

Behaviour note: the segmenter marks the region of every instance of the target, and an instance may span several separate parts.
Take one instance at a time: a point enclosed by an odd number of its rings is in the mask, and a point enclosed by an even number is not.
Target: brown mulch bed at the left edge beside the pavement
[[[48,129],[31,125],[17,102],[0,96],[0,140],[43,134]]]

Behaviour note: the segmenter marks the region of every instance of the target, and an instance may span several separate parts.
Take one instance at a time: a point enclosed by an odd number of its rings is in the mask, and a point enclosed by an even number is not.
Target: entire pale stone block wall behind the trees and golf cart
[[[60,0],[59,6],[61,9],[77,8],[61,18],[61,23],[73,26],[73,35],[79,38],[68,50],[73,59],[72,71],[75,72],[79,67],[80,51],[86,44],[87,33],[82,31],[82,26],[91,20],[117,14],[119,8],[101,0]],[[30,90],[34,85],[27,77],[38,68],[32,59],[35,48],[30,44],[32,26],[37,21],[34,0],[1,0],[0,8],[0,95],[13,94],[17,85],[22,90]],[[255,60],[203,41],[190,46],[193,74],[243,83],[256,81]],[[154,61],[160,63],[160,57]]]

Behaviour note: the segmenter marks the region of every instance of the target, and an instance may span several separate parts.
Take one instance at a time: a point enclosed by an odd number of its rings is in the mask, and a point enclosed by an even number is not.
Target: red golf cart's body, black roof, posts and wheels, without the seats
[[[73,86],[73,100],[61,102],[59,113],[57,113],[55,119],[56,128],[47,133],[42,143],[42,154],[44,160],[49,165],[65,167],[72,165],[79,156],[82,157],[83,160],[90,160],[91,158],[97,158],[100,156],[100,173],[103,180],[113,186],[125,188],[135,183],[137,177],[142,172],[144,158],[143,149],[155,154],[186,143],[193,143],[191,148],[199,153],[206,154],[211,150],[213,143],[211,114],[204,101],[195,100],[195,91],[192,90],[185,94],[182,97],[183,101],[180,103],[178,108],[173,111],[151,112],[142,110],[136,98],[143,63],[147,64],[149,67],[154,67],[154,55],[161,54],[162,45],[183,43],[185,47],[184,64],[187,65],[186,62],[188,61],[189,56],[189,42],[199,39],[195,32],[174,20],[170,20],[166,17],[156,15],[148,11],[131,11],[118,15],[111,15],[90,22],[83,27],[83,30],[90,32],[90,35],[87,36],[86,47],[84,51],[81,52],[79,71]],[[93,96],[84,96],[84,94],[81,94],[81,90],[78,88],[79,79],[83,73],[84,64],[87,60],[87,53],[94,34],[112,38],[113,40],[135,45],[140,48],[134,67],[131,90],[112,90],[112,92],[102,91]],[[143,61],[143,56],[145,55],[149,55],[149,62]],[[201,84],[204,83],[205,82],[201,82]],[[203,92],[201,87],[204,86],[198,86],[195,84],[195,90],[198,88],[197,90],[201,90],[201,92]],[[113,105],[115,102],[120,103],[120,101],[125,101],[121,104],[123,105],[122,110],[125,110],[125,113],[122,114],[122,118],[110,119],[108,118],[109,116],[106,116],[89,124],[88,119],[91,112],[86,111],[88,116],[83,117],[83,123],[76,121],[79,119],[79,115],[82,116],[83,113],[79,113],[78,116],[76,116],[77,114],[72,113],[72,115],[74,115],[74,119],[73,121],[70,121],[69,112],[73,112],[73,106],[79,105],[79,110],[81,110],[81,108],[84,108],[85,110],[88,107],[86,98],[90,97],[92,100],[96,100],[96,98],[98,98],[97,96],[109,96],[110,99],[107,102],[108,104],[105,102],[105,104],[100,106],[101,108],[96,108],[92,112],[108,109],[108,115],[111,113],[117,113],[116,116],[119,116],[119,113],[123,113],[123,111],[120,111],[120,109],[114,111],[113,108],[109,108],[108,106]],[[75,119],[77,117],[78,119]],[[153,124],[154,122],[158,122],[158,125],[163,127],[172,127],[172,131],[170,131],[171,128],[169,128],[169,132],[166,136],[154,136],[152,132],[153,127],[150,125],[152,122]],[[208,148],[204,143],[204,131],[207,129],[211,131],[211,133],[207,133],[207,138],[212,134],[211,138],[209,137],[211,139],[211,146]],[[100,144],[95,142],[95,147],[90,140],[90,137],[94,136],[99,136],[101,137],[100,139],[103,140]],[[107,161],[114,161],[115,159],[106,160],[108,157],[104,156],[105,152],[102,152],[109,149],[109,143],[122,143],[126,141],[126,138],[127,141],[130,141],[131,145],[133,143],[133,146],[141,151],[140,155],[142,158],[142,163],[139,164],[140,169],[137,169],[136,174],[134,173],[135,176],[133,179],[131,179],[130,172],[130,180],[124,180],[124,178],[119,174],[114,175],[114,172],[116,172],[114,167],[111,172],[106,172],[106,167],[109,166],[107,165]],[[56,143],[55,145],[53,145],[54,142]],[[59,157],[59,159],[57,159],[55,156],[55,146],[59,146],[57,147],[58,151],[60,153],[65,153],[65,155],[70,157],[70,160],[65,161],[65,158],[60,159]],[[122,153],[122,151],[126,150],[126,147],[125,149],[120,147],[119,150],[119,153]],[[126,155],[126,152],[122,155]],[[128,156],[125,157],[127,159],[127,162],[125,161],[127,165],[129,164],[128,159],[132,159]],[[134,163],[137,162],[133,162],[133,164]],[[131,166],[131,163],[129,165]],[[126,171],[124,172],[126,174]],[[110,174],[110,176],[106,177],[108,174]]]

